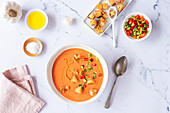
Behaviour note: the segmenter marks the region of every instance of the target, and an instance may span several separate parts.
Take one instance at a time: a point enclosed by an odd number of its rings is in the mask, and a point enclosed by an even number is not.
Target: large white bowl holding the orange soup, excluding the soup
[[[102,67],[103,67],[103,72],[104,72],[104,78],[103,78],[103,82],[102,82],[102,85],[101,85],[101,88],[99,90],[99,92],[97,93],[96,96],[94,96],[93,98],[89,99],[89,100],[86,100],[86,101],[83,101],[83,102],[75,102],[75,101],[71,101],[67,98],[65,98],[64,96],[62,96],[60,94],[60,92],[56,89],[54,83],[53,83],[53,79],[52,79],[52,67],[53,67],[53,64],[56,60],[56,58],[65,50],[67,49],[71,49],[71,48],[80,48],[80,49],[84,49],[86,51],[89,51],[91,52],[92,54],[94,54],[96,57],[98,57],[100,63],[102,64]],[[68,103],[73,103],[73,104],[87,104],[87,103],[90,103],[90,102],[93,102],[95,101],[101,94],[102,92],[104,91],[105,87],[106,87],[106,84],[107,84],[107,80],[108,80],[108,67],[107,67],[107,64],[104,60],[104,58],[96,51],[94,50],[93,48],[89,47],[89,46],[86,46],[86,45],[67,45],[67,46],[64,46],[64,47],[61,47],[60,49],[58,49],[55,54],[51,57],[51,59],[49,60],[48,62],[48,65],[47,65],[47,79],[48,79],[48,83],[51,87],[51,89],[53,90],[53,92],[60,98],[62,99],[63,101],[65,102],[68,102]]]

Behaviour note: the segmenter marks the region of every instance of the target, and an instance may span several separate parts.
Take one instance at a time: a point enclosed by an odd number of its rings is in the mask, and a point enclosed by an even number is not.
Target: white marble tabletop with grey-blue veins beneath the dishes
[[[5,0],[0,0],[0,3]],[[16,0],[25,13],[32,8],[43,9],[49,25],[42,32],[33,33],[21,21],[10,25],[0,20],[0,71],[27,64],[34,76],[38,96],[46,102],[41,113],[169,113],[170,112],[170,0],[133,0],[116,22],[118,48],[112,47],[111,28],[98,37],[83,25],[82,19],[99,0]],[[1,4],[0,4],[1,6]],[[151,36],[142,42],[131,42],[121,29],[123,19],[131,12],[144,12],[153,22]],[[74,24],[62,24],[64,17],[73,17]],[[43,42],[40,56],[30,58],[23,52],[27,38]],[[109,67],[109,81],[103,94],[88,105],[70,105],[50,90],[46,65],[58,47],[68,43],[83,43],[98,50]],[[114,89],[111,108],[104,103],[115,79],[112,65],[126,55],[129,67]]]

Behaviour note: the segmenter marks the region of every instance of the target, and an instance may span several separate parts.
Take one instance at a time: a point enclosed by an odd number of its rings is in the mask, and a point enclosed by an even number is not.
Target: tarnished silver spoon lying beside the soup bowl
[[[105,103],[105,108],[108,109],[110,107],[110,100],[111,100],[111,96],[112,96],[112,92],[113,92],[113,88],[116,84],[116,81],[117,81],[117,78],[121,75],[123,75],[125,72],[126,72],[126,69],[127,69],[127,58],[125,56],[122,56],[121,58],[119,58],[115,65],[114,65],[114,68],[113,68],[113,71],[116,75],[116,79],[115,79],[115,82],[112,86],[112,89],[110,91],[110,94],[109,94],[109,97],[107,98],[107,101]]]

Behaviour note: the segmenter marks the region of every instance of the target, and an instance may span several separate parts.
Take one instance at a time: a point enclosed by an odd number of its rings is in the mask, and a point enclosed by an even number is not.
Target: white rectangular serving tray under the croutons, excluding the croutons
[[[132,2],[132,0],[124,0],[123,5],[125,6],[125,8],[124,8],[120,13],[118,12],[118,16],[119,16],[124,10],[126,10],[126,7],[127,7],[131,2]],[[111,5],[110,5],[110,3],[109,3],[108,0],[101,0],[99,3],[100,3],[100,4],[102,4],[102,3],[108,3],[108,6],[109,6],[108,9],[111,7]],[[98,3],[98,4],[99,4],[99,3]],[[91,11],[90,13],[94,13],[95,10],[98,10],[98,9],[97,9],[97,4],[95,5],[95,7],[92,9],[92,11]],[[108,16],[109,16],[108,10],[105,10],[105,12],[107,12],[107,14],[108,14]],[[88,15],[89,15],[90,13],[88,13]],[[102,36],[102,35],[105,33],[105,31],[107,31],[107,29],[110,27],[110,25],[111,25],[111,19],[108,17],[106,24],[101,28],[101,29],[103,30],[103,33],[98,34],[98,33],[94,30],[94,26],[91,26],[91,25],[90,25],[91,19],[88,18],[88,15],[83,19],[83,23],[84,23],[89,29],[91,29],[91,31],[93,31],[95,34],[97,34],[98,36]],[[96,20],[99,20],[99,19],[96,18]]]

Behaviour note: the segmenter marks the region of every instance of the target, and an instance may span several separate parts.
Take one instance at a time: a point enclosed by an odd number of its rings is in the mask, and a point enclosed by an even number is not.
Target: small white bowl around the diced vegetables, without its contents
[[[126,31],[125,31],[125,29],[124,29],[125,22],[128,22],[128,19],[129,19],[131,16],[136,16],[137,14],[138,14],[138,15],[143,15],[143,17],[144,17],[146,20],[148,20],[148,22],[149,22],[149,28],[148,28],[149,33],[148,33],[145,37],[143,37],[143,38],[141,38],[141,39],[133,39],[131,36],[127,36],[127,35],[126,35]],[[146,14],[140,13],[140,12],[134,12],[134,13],[129,14],[129,15],[124,19],[123,24],[122,24],[122,28],[123,28],[124,34],[126,35],[126,37],[127,37],[128,39],[130,39],[130,40],[132,40],[132,41],[142,41],[142,40],[145,40],[146,38],[148,38],[148,36],[150,35],[150,33],[151,33],[151,31],[152,31],[152,22],[151,22],[150,18],[149,18]]]

